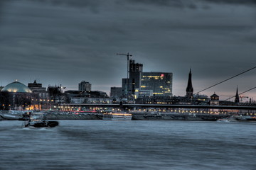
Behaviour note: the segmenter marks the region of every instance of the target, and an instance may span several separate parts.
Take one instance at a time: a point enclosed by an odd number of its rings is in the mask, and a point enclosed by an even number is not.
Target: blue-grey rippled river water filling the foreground
[[[0,169],[256,169],[256,123],[0,122]]]

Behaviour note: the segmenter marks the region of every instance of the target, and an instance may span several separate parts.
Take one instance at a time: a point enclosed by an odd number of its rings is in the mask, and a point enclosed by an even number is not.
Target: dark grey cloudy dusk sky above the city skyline
[[[0,81],[110,91],[133,55],[144,72],[172,72],[184,96],[256,65],[256,0],[0,0]],[[256,69],[201,94],[256,86]],[[256,89],[246,93],[256,100]]]

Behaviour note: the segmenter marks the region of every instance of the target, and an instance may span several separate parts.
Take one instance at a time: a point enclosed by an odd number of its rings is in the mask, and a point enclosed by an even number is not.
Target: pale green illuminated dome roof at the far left
[[[1,89],[1,91],[13,93],[32,93],[31,89],[18,81],[14,81],[13,83],[6,85],[4,89]]]

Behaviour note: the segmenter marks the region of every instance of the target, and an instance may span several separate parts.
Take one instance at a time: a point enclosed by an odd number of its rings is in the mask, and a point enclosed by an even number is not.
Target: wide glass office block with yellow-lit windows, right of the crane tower
[[[143,72],[142,90],[152,90],[154,96],[172,96],[172,77],[169,72]]]

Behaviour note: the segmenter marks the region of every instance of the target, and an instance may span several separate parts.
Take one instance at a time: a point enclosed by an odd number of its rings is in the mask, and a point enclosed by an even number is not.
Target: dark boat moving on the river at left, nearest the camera
[[[53,128],[58,126],[58,121],[44,120],[43,115],[31,115],[22,125],[22,128]]]

